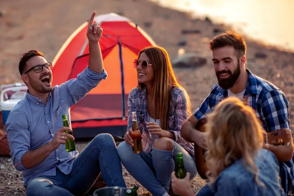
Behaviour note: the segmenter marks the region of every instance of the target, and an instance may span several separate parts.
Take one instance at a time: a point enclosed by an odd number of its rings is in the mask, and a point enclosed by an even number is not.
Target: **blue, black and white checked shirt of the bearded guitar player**
[[[284,93],[269,81],[266,81],[246,70],[248,80],[243,101],[251,106],[258,118],[261,120],[264,129],[267,132],[281,128],[289,128],[289,102]],[[213,108],[224,98],[228,97],[228,92],[216,84],[210,94],[203,100],[201,105],[194,112],[194,116],[200,120],[205,117]],[[288,190],[288,180],[294,187],[294,163],[293,160],[288,162],[279,162],[280,177],[282,186],[286,193]]]

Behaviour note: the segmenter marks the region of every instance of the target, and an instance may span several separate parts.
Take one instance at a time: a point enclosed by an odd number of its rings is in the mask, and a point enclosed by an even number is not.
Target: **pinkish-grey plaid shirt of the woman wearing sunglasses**
[[[147,110],[147,90],[142,91],[136,87],[133,88],[128,96],[128,122],[127,130],[132,128],[132,114],[136,112],[137,120],[141,133],[143,133],[142,145],[145,152],[150,153],[152,150],[152,136],[146,128],[145,122],[149,122]],[[169,110],[169,130],[174,133],[175,142],[182,146],[194,158],[194,144],[187,142],[181,137],[180,129],[184,121],[189,117],[187,111],[187,99],[184,90],[178,87],[172,89],[172,96]],[[143,130],[143,131],[142,131]]]

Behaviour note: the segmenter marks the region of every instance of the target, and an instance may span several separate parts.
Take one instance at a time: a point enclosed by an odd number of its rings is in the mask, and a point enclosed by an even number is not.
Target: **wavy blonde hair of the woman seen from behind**
[[[211,181],[243,158],[246,169],[254,173],[255,181],[259,182],[253,158],[263,145],[265,131],[250,106],[238,98],[225,98],[208,115],[206,132],[207,175]]]

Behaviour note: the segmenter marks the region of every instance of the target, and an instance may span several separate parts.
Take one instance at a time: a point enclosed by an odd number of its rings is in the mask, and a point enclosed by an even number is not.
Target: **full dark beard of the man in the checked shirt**
[[[221,73],[228,73],[230,76],[228,78],[220,78]],[[219,82],[220,87],[223,89],[232,88],[234,86],[236,80],[238,79],[240,73],[241,73],[241,69],[240,69],[240,62],[239,61],[238,61],[238,66],[237,66],[236,70],[234,71],[234,73],[232,73],[229,70],[217,72],[217,77],[218,77],[218,82]]]

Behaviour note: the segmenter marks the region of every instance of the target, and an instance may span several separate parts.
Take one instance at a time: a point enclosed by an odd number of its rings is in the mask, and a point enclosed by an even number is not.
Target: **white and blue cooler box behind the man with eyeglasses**
[[[2,110],[2,120],[5,125],[10,111],[14,106],[25,97],[27,87],[15,86],[8,87],[1,91],[0,94],[0,110]]]

